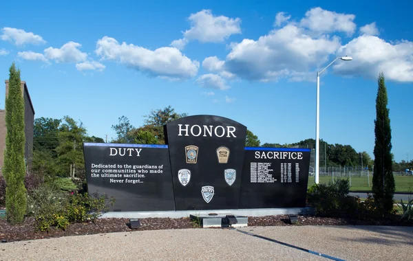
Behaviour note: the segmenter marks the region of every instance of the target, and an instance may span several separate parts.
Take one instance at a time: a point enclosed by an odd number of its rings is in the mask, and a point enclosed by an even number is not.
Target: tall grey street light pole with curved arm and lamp
[[[332,65],[336,60],[341,59],[341,60],[352,60],[351,57],[349,56],[343,56],[343,57],[337,57],[335,60],[333,60],[330,65]],[[330,65],[327,65],[326,68],[322,69],[321,71],[317,72],[317,105],[316,105],[316,116],[315,116],[315,183],[319,183],[319,145],[320,145],[320,109],[319,109],[319,99],[320,99],[320,74],[326,70]]]

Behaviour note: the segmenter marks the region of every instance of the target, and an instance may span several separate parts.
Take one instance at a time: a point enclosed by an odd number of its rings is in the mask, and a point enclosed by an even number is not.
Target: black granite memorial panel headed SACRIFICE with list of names
[[[245,148],[240,209],[305,207],[310,149]]]

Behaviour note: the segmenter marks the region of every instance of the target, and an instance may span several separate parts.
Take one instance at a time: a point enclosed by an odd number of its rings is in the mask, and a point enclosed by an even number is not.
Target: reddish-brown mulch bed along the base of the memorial
[[[412,225],[394,220],[349,220],[346,218],[324,218],[318,216],[298,216],[296,225]],[[0,219],[0,242],[34,240],[39,238],[58,238],[61,236],[80,236],[106,234],[123,231],[142,231],[156,229],[189,229],[198,227],[189,218],[140,218],[140,227],[130,229],[129,218],[99,218],[95,223],[70,224],[65,231],[51,228],[48,232],[34,231],[34,219],[26,218],[21,225],[10,225]],[[248,217],[249,227],[288,226],[288,216]]]

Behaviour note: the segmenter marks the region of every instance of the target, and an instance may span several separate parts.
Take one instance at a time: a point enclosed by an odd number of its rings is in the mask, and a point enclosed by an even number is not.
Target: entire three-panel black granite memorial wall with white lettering
[[[213,115],[169,122],[167,145],[85,143],[90,194],[109,211],[305,207],[310,149],[244,147],[246,126]]]

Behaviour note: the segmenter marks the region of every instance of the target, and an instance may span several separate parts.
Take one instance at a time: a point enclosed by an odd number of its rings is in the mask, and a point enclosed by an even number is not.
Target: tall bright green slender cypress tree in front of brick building
[[[10,67],[8,97],[6,98],[6,150],[3,175],[6,179],[6,213],[10,223],[20,223],[26,213],[24,186],[24,101],[21,94],[20,69]]]

